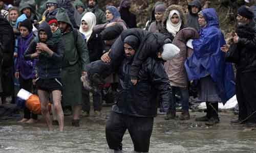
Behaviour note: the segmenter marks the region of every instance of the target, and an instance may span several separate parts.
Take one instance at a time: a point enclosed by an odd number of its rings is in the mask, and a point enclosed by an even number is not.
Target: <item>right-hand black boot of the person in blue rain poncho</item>
[[[220,122],[218,105],[219,105],[218,102],[209,104],[210,118],[209,118],[209,121],[205,123],[206,125],[212,126]]]

